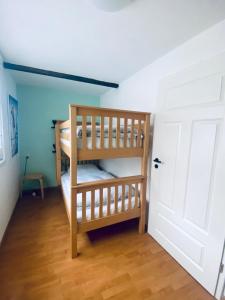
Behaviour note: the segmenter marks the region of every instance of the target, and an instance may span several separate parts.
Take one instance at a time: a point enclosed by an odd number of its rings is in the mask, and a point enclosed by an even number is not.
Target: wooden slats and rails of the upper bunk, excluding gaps
[[[143,146],[142,146],[142,123],[145,124],[146,120],[149,120],[150,113],[144,112],[134,112],[134,111],[126,111],[126,110],[117,110],[117,109],[105,109],[99,107],[89,107],[89,106],[79,106],[79,105],[70,105],[70,110],[76,111],[76,116],[82,118],[82,147],[77,149],[77,159],[78,160],[95,160],[95,159],[110,159],[110,158],[122,158],[122,157],[140,157],[143,156]],[[86,118],[90,116],[92,122],[87,122]],[[148,118],[147,118],[148,117]],[[96,118],[100,118],[100,147],[96,148],[96,126],[99,126],[96,123]],[[113,120],[116,120],[116,147],[112,147],[112,138],[113,138]],[[105,149],[104,140],[104,122],[105,119],[108,119],[108,149]],[[124,120],[124,138],[123,145],[120,143],[120,130],[121,130],[121,122],[120,119]],[[128,120],[131,121],[132,124],[132,136],[131,136],[131,145],[127,148],[128,143]],[[138,125],[135,125],[134,121],[138,122]],[[80,123],[77,119],[73,118],[73,122],[76,122],[76,125]],[[61,139],[71,141],[71,133],[66,132],[63,129],[70,129],[71,124],[73,123],[71,120],[68,121],[60,121],[59,130],[60,130],[60,141]],[[92,149],[87,149],[87,125],[92,125]],[[134,126],[137,127],[137,143],[134,147]],[[72,135],[73,139],[76,136],[76,133]],[[70,149],[68,146],[60,142],[60,146],[62,151],[66,153],[67,156],[70,157]]]

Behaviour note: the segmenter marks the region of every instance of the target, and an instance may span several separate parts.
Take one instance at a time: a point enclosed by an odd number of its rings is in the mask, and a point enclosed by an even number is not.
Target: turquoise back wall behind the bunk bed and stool
[[[28,172],[42,172],[46,186],[55,186],[55,154],[52,153],[53,119],[69,118],[69,104],[99,106],[97,96],[79,95],[73,91],[36,86],[17,86],[19,104],[19,147],[21,174],[28,154]],[[31,187],[26,185],[25,188]],[[32,185],[36,187],[36,185]]]

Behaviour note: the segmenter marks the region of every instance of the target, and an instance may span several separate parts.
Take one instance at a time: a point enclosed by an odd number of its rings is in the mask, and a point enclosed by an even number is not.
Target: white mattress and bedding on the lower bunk
[[[104,179],[111,179],[114,178],[110,173],[100,170],[97,166],[93,164],[87,164],[87,165],[78,165],[77,166],[77,183],[86,183],[96,180],[104,180]],[[61,184],[62,184],[62,190],[64,194],[64,200],[65,205],[67,208],[67,212],[70,214],[70,173],[65,172],[61,176]],[[129,206],[129,199],[128,199],[128,193],[129,193],[129,187],[125,187],[125,201],[124,201],[124,209],[125,211],[128,210]],[[95,209],[94,214],[95,218],[99,217],[99,190],[95,191]],[[111,188],[111,194],[110,194],[110,213],[115,213],[115,189]],[[108,201],[108,189],[103,189],[103,210],[102,214],[103,217],[107,215],[107,201]],[[139,206],[139,196],[138,196],[138,206]],[[132,189],[131,191],[131,208],[135,207],[135,197],[134,197],[134,191]],[[122,186],[118,187],[118,212],[122,211]],[[86,193],[86,219],[91,219],[91,192]],[[77,194],[77,220],[78,222],[81,222],[82,220],[82,194]]]

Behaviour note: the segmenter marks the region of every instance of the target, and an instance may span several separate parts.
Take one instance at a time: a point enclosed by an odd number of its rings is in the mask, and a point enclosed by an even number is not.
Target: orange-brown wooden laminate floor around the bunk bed
[[[68,238],[58,191],[20,200],[0,249],[0,299],[212,299],[137,222],[80,235],[74,260]]]

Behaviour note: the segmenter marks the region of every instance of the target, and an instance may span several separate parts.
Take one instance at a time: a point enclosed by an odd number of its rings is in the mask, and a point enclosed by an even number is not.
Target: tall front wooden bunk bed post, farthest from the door
[[[70,105],[70,240],[71,240],[71,256],[77,256],[77,108]]]

